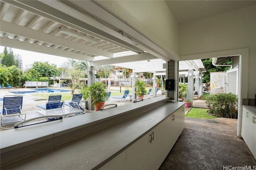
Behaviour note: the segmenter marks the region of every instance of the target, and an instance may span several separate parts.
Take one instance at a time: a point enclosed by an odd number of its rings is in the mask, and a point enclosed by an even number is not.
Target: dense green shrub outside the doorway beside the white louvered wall
[[[235,94],[215,94],[206,99],[206,106],[212,115],[237,119],[238,98]]]

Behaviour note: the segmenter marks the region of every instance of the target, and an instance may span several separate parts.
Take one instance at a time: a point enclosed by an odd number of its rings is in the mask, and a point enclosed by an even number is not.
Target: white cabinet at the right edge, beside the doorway
[[[242,137],[256,159],[256,115],[243,107]]]

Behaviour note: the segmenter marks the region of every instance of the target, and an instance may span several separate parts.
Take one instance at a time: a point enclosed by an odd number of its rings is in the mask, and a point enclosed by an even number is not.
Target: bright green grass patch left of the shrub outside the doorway
[[[192,107],[188,113],[185,115],[185,117],[194,117],[199,119],[214,119],[218,118],[217,116],[208,115],[206,111],[209,109],[203,109],[203,108],[196,108]]]

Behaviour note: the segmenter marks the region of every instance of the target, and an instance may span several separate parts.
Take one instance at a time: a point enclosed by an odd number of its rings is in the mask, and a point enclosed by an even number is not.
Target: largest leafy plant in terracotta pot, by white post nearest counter
[[[95,110],[98,111],[104,106],[106,101],[106,87],[101,82],[95,82],[86,89],[85,96],[91,99],[92,105],[95,106]]]

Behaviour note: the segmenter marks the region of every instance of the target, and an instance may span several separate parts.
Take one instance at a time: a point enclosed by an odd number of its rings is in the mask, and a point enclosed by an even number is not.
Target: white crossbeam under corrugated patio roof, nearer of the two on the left
[[[60,46],[68,47],[71,49],[77,49],[79,51],[86,51],[88,53],[102,55],[104,57],[113,57],[113,54],[108,51],[103,51],[103,50],[95,49],[93,47],[88,47],[86,45],[82,45],[74,41],[63,39],[61,37],[56,37],[54,35],[36,31],[34,29],[29,29],[27,27],[22,27],[20,25],[15,25],[13,23],[2,21],[2,20],[1,20],[0,29],[1,31],[6,33],[19,35],[19,36],[30,38],[30,39],[36,39],[38,41],[43,41],[43,42],[47,42],[54,45],[60,45]]]

